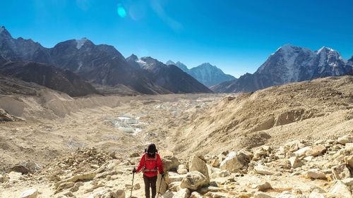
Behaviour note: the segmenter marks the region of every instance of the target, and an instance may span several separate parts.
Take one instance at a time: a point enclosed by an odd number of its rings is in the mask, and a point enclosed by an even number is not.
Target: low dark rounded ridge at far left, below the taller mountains
[[[8,62],[0,66],[0,74],[65,92],[71,97],[97,94],[92,85],[69,70],[35,62]]]

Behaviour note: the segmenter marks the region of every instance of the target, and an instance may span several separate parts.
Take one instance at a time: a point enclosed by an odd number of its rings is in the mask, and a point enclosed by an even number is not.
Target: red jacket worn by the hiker
[[[148,169],[148,170],[155,169],[155,171],[145,171],[145,169]],[[157,170],[160,173],[163,173],[163,165],[162,165],[162,160],[160,159],[160,155],[156,154],[155,158],[150,158],[148,157],[148,154],[143,154],[143,156],[141,157],[140,163],[136,168],[136,173],[143,171],[143,174],[151,178],[158,175]]]

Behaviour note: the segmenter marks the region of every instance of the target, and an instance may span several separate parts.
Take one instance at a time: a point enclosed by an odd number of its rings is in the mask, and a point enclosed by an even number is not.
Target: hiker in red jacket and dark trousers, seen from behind
[[[156,196],[156,182],[158,172],[164,176],[162,160],[160,155],[157,153],[157,148],[155,144],[148,145],[148,149],[145,150],[140,164],[135,169],[133,168],[133,173],[143,172],[143,181],[145,182],[145,197],[150,198],[150,188],[152,190],[152,198]]]

